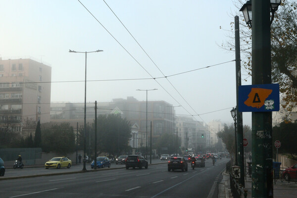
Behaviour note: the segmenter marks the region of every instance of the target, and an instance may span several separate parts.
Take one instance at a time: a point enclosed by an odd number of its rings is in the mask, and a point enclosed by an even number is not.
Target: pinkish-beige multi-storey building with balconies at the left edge
[[[0,58],[0,129],[22,132],[25,119],[49,122],[51,67]]]

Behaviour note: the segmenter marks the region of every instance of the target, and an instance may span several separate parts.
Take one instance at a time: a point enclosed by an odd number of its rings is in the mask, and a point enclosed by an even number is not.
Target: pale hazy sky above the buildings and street
[[[51,102],[84,102],[85,54],[69,49],[99,49],[87,55],[87,102],[144,101],[136,90],[157,89],[148,100],[181,105],[176,115],[233,123],[235,54],[220,48],[233,15],[243,19],[232,1],[1,0],[1,8],[0,56],[51,66]]]

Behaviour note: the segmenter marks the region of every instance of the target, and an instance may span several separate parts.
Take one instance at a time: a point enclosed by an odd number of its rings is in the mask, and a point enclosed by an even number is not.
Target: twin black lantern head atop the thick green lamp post
[[[273,21],[274,12],[278,9],[278,6],[281,4],[281,1],[282,0],[270,0],[270,12],[271,12],[270,24]],[[243,12],[245,21],[246,21],[248,27],[251,28],[251,21],[252,21],[251,0],[248,0],[239,11]]]

